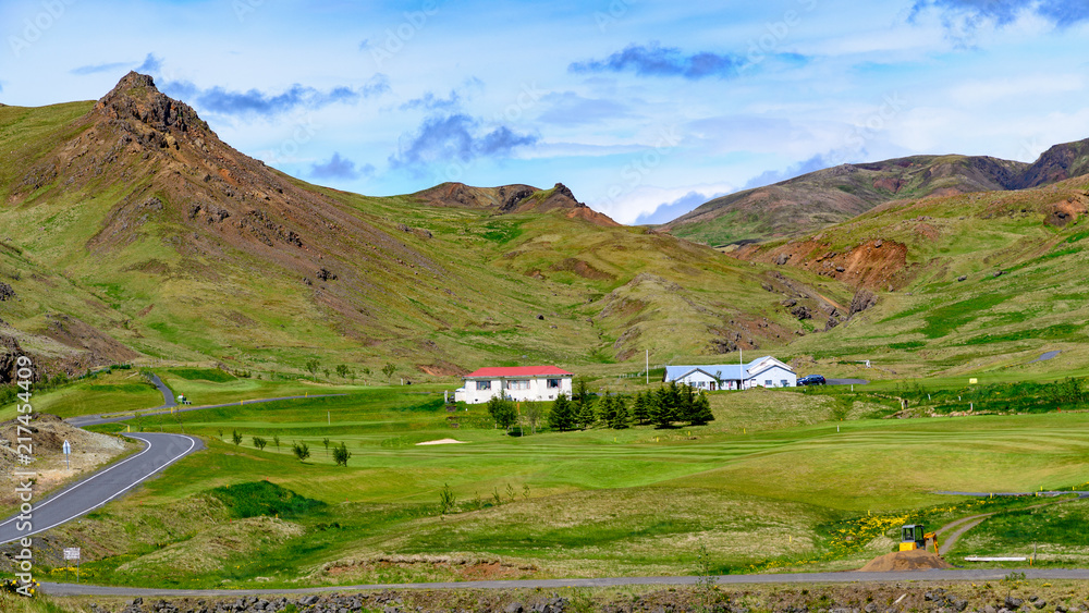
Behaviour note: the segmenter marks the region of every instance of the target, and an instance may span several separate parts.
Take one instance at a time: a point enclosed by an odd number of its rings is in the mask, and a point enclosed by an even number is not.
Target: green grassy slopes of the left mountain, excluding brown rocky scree
[[[0,109],[0,147],[19,154],[5,157],[0,185],[15,189],[29,163],[72,136],[73,121],[88,107]],[[20,277],[10,281],[22,302],[9,322],[42,332],[48,323],[42,312],[52,310],[169,360],[215,359],[269,373],[299,372],[313,357],[330,369],[345,363],[378,371],[392,358],[401,375],[421,378],[427,376],[418,367],[431,364],[452,372],[480,364],[611,363],[645,348],[661,356],[700,354],[709,351],[714,330],[731,321],[766,316],[787,321],[771,309],[773,296],[760,290],[762,267],[738,265],[711,249],[560,213],[492,217],[411,197],[321,189],[443,269],[432,274],[400,259],[364,266],[359,256],[369,253],[367,245],[330,262],[359,267],[359,278],[372,283],[353,290],[366,311],[362,323],[334,311],[294,272],[237,249],[217,254],[206,244],[189,246],[192,232],[169,216],[151,214],[135,240],[88,250],[115,204],[150,181],[151,171],[168,170],[111,168],[82,187],[64,189],[61,175],[0,209],[5,226],[26,229],[0,249],[0,273]],[[119,180],[124,173],[135,179]],[[399,224],[431,237],[402,232]],[[631,290],[624,286],[641,272],[682,291],[620,296],[629,308],[599,317],[610,293]],[[760,345],[776,342],[755,324],[745,335]],[[27,348],[49,348],[40,335],[27,334],[26,342]]]

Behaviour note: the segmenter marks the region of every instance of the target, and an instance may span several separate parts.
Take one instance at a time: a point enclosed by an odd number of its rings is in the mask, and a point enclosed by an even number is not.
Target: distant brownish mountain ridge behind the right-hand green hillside
[[[711,245],[792,236],[890,200],[1026,189],[1089,172],[1089,140],[1052,147],[1032,164],[975,156],[913,156],[842,164],[715,198],[659,230]]]

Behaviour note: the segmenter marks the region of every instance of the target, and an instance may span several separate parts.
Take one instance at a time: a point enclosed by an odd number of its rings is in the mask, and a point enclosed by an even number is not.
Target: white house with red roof
[[[513,401],[554,401],[561,393],[571,396],[575,375],[554,366],[511,366],[480,368],[465,376],[465,385],[454,391],[454,400],[468,404],[494,396]]]

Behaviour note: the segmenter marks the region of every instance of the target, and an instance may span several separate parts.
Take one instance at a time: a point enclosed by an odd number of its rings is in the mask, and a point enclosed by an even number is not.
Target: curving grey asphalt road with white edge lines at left
[[[127,434],[143,441],[144,451],[112,464],[90,477],[34,502],[30,529],[20,531],[20,515],[0,523],[0,543],[28,537],[71,522],[102,506],[180,458],[204,448],[199,439],[184,434],[142,432]]]

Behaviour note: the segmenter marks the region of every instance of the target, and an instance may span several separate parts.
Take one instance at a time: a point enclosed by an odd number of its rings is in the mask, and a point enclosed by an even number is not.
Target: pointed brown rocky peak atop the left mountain
[[[159,132],[208,130],[197,112],[159,91],[150,75],[130,72],[103,96],[95,110],[118,122],[135,121]]]

